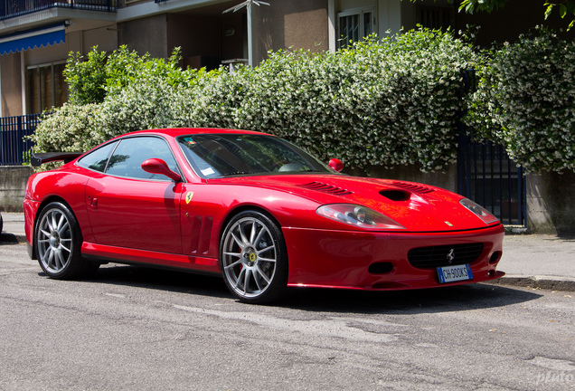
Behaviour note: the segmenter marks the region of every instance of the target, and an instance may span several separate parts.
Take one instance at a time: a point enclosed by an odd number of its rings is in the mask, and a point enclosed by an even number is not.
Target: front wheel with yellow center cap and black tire
[[[269,303],[287,293],[287,249],[278,224],[256,211],[235,215],[220,242],[223,281],[240,301]]]

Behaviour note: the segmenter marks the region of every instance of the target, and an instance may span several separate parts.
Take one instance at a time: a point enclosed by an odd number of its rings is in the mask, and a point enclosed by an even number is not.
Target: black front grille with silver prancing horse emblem
[[[483,243],[451,244],[411,249],[408,260],[411,266],[430,269],[442,266],[472,263],[483,252]]]

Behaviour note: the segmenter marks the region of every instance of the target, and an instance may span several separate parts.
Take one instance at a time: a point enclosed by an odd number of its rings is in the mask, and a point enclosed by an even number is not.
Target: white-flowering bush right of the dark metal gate
[[[494,52],[469,97],[477,138],[504,144],[531,172],[575,169],[575,43],[522,36]]]

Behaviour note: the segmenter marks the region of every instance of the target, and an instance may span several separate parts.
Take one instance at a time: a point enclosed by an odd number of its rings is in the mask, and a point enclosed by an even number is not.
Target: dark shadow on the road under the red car
[[[41,273],[42,274],[42,273]],[[173,291],[221,298],[231,306],[235,300],[221,277],[175,272],[121,264],[105,265],[90,280],[100,284],[126,285],[150,290]],[[476,283],[409,291],[347,291],[297,288],[270,306],[314,312],[348,313],[437,313],[497,308],[537,300],[536,290]]]

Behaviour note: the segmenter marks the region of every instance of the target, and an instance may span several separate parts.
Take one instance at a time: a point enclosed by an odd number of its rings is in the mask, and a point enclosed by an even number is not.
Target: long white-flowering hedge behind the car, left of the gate
[[[174,56],[143,60],[125,48],[112,55],[99,75],[104,97],[86,106],[90,121],[80,104],[55,110],[38,135],[61,134],[34,136],[36,150],[69,150],[63,148],[76,146],[74,138],[83,138],[87,149],[137,129],[222,127],[269,132],[348,167],[444,170],[457,158],[460,71],[477,63],[470,44],[429,30],[372,36],[335,53],[270,52],[259,67],[234,73],[177,70]],[[69,74],[86,73],[81,63],[70,63],[76,71]],[[94,82],[90,89],[82,96],[99,96]],[[69,137],[78,121],[83,134]]]

